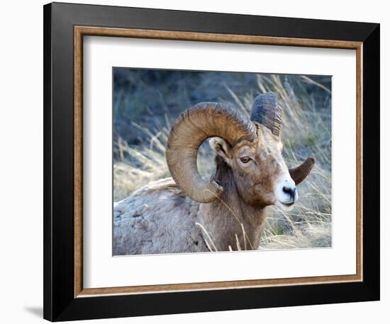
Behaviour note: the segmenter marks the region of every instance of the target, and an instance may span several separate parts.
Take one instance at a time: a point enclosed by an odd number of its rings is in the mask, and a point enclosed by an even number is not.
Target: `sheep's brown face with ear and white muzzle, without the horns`
[[[210,144],[233,170],[238,192],[247,204],[292,209],[298,192],[282,157],[282,142],[269,129],[259,125],[255,141],[239,141],[233,147],[220,137],[213,137]]]

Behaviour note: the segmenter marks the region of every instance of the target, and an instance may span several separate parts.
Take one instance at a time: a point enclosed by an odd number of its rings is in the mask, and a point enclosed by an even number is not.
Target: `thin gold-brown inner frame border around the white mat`
[[[132,37],[159,40],[190,40],[201,42],[228,42],[257,45],[283,45],[300,47],[325,47],[356,50],[356,274],[296,277],[284,279],[251,279],[225,282],[188,284],[158,284],[130,287],[83,287],[83,36]],[[311,40],[302,38],[265,37],[255,35],[229,35],[213,33],[178,32],[171,30],[141,30],[74,26],[74,297],[91,297],[107,294],[146,294],[174,291],[211,289],[239,289],[298,284],[325,284],[359,282],[363,279],[362,260],[362,42],[341,40]]]

